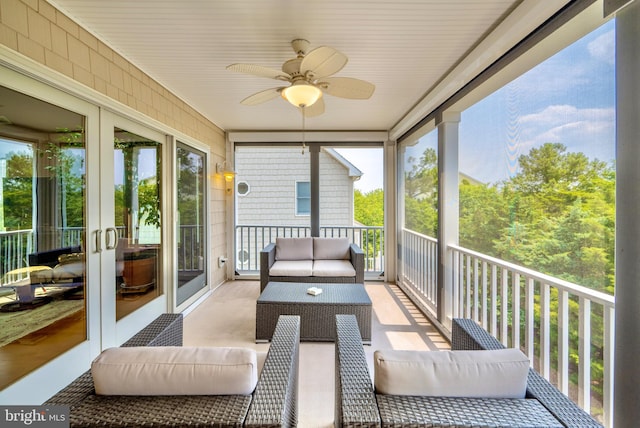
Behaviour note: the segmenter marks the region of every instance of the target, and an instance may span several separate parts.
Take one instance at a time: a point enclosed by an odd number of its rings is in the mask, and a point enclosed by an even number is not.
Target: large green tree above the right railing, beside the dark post
[[[521,171],[505,183],[503,197],[520,222],[509,246],[509,228],[496,243],[506,260],[588,287],[612,287],[615,173],[599,160],[547,143],[519,159]]]

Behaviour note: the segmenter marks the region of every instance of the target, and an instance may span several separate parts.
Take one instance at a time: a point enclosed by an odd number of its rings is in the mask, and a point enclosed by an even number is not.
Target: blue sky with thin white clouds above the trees
[[[461,172],[486,183],[508,179],[518,172],[518,156],[547,142],[613,162],[614,31],[610,21],[462,112]],[[436,137],[424,136],[407,155],[420,157],[425,148],[435,148]],[[361,190],[382,187],[381,151],[371,168],[366,152],[343,155],[365,173]]]

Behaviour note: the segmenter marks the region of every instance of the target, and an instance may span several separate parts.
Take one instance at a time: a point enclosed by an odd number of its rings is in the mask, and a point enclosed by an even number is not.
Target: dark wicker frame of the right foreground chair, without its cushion
[[[472,320],[453,321],[453,350],[500,348]],[[336,427],[602,426],[533,369],[525,399],[378,394],[353,315],[336,316],[335,363]]]

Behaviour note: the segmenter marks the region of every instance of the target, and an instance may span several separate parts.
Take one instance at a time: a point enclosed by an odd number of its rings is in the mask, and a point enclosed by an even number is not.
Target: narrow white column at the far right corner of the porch
[[[396,142],[384,143],[384,280],[395,283],[397,275],[397,202],[398,195],[393,189],[398,188]]]

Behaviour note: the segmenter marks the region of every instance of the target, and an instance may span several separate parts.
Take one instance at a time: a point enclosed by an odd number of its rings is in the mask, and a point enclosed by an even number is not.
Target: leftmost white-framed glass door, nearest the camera
[[[0,82],[0,402],[20,404],[101,349],[100,113],[7,68]]]

